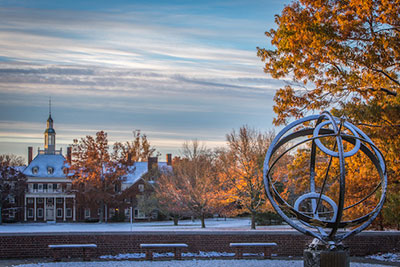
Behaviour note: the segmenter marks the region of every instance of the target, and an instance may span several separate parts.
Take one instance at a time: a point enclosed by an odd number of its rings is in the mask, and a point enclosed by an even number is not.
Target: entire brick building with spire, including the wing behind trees
[[[131,210],[134,219],[148,219],[137,208],[137,196],[153,190],[152,183],[157,177],[143,179],[143,176],[154,166],[160,171],[171,169],[171,154],[167,154],[166,160],[158,162],[157,157],[149,157],[147,162],[132,162],[128,173],[121,177],[123,182],[120,188],[115,188],[117,202],[106,206],[104,210],[105,221],[113,218],[117,212],[124,212],[125,219],[129,220]],[[78,203],[78,190],[74,190],[73,174],[69,172],[70,163],[71,147],[67,149],[67,158],[63,156],[62,149],[56,149],[56,132],[49,113],[44,149],[38,149],[33,158],[33,147],[28,147],[28,166],[19,167],[19,171],[27,177],[27,189],[25,195],[21,196],[23,211],[15,219],[27,222],[75,222],[100,218],[98,205]]]

